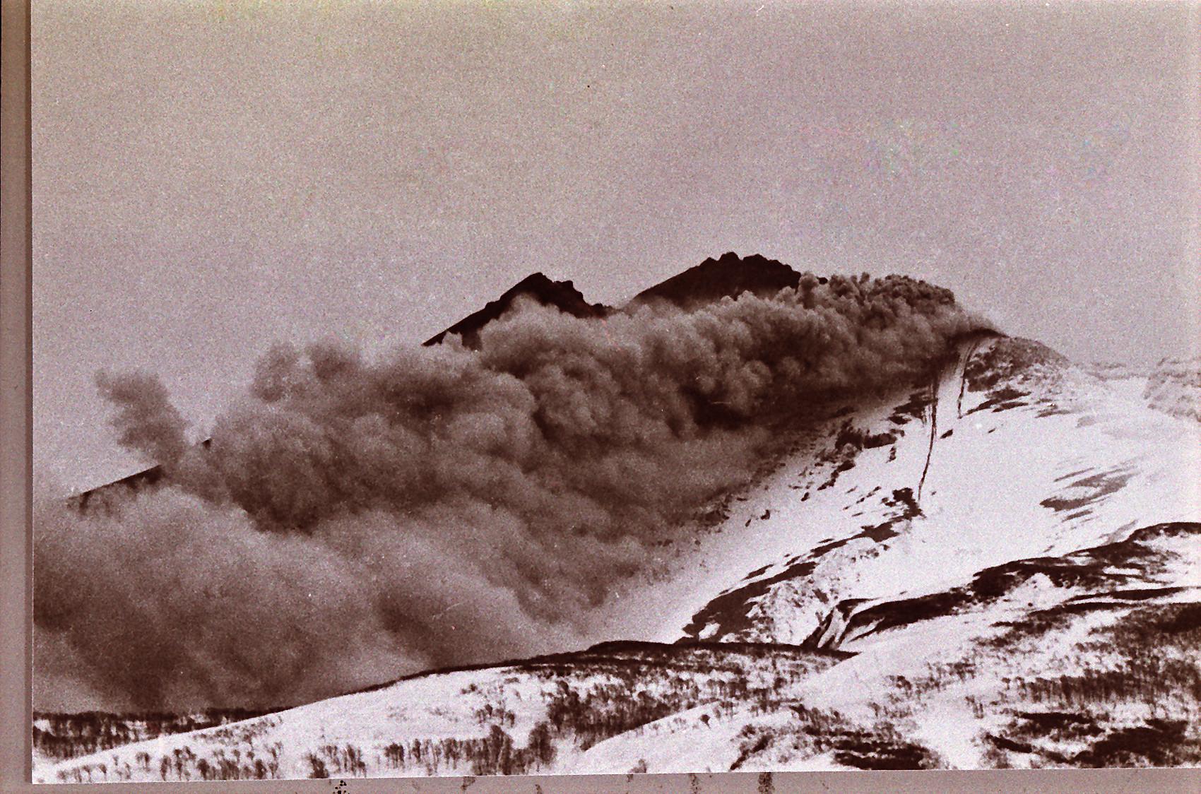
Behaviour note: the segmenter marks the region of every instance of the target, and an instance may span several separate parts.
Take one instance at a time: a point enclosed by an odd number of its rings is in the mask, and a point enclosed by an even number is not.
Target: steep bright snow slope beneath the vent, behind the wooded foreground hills
[[[938,587],[1136,526],[1197,520],[1196,428],[1035,342],[992,340],[957,366],[937,392],[846,419],[807,470],[765,483],[743,509],[770,513],[763,529],[781,548],[698,609],[688,633],[801,643],[842,620],[849,607],[836,604],[847,598]],[[873,448],[859,449],[859,436]]]

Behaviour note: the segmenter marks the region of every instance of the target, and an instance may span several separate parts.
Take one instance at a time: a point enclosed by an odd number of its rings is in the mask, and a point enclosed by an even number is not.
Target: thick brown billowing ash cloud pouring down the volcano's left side
[[[604,318],[519,302],[478,350],[280,345],[208,449],[179,448],[155,381],[106,376],[171,484],[40,507],[37,675],[106,708],[247,706],[576,646],[773,423],[912,377],[973,326],[897,276]]]

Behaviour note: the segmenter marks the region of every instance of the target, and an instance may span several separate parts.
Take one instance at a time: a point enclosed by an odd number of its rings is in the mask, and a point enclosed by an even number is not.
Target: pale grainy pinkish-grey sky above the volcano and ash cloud
[[[97,369],[199,437],[271,341],[418,342],[533,270],[761,252],[1196,354],[1199,8],[38,0],[38,476],[138,468]]]

